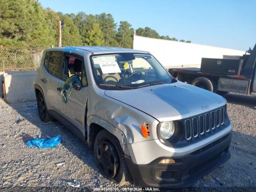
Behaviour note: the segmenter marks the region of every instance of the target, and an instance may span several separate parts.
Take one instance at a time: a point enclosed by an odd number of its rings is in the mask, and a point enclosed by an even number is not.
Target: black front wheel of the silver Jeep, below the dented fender
[[[132,177],[119,140],[107,130],[100,131],[94,142],[94,158],[103,176],[124,185]]]

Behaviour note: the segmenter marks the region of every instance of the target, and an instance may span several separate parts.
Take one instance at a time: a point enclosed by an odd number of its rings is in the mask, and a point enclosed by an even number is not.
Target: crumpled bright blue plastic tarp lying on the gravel
[[[27,145],[30,146],[36,146],[40,149],[42,148],[52,148],[60,144],[61,138],[60,135],[50,138],[50,139],[38,139],[34,138],[34,140],[28,141]]]

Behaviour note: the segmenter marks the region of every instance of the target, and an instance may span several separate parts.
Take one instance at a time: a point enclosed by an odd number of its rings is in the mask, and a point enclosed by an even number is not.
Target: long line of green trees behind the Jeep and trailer
[[[132,48],[134,29],[127,21],[115,23],[111,14],[78,12],[62,14],[42,8],[37,0],[0,0],[0,46],[58,46],[58,20],[62,29],[62,46],[99,45]],[[138,36],[178,41],[160,36],[149,27],[138,28]],[[180,42],[190,41],[180,40]]]

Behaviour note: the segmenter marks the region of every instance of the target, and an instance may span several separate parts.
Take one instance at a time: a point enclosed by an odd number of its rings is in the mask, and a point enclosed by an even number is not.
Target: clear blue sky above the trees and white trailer
[[[63,13],[110,13],[192,43],[247,50],[256,43],[256,0],[39,0]]]

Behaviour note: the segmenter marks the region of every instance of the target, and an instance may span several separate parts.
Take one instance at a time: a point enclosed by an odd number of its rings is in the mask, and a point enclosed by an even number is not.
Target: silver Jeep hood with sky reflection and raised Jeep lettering
[[[106,90],[105,95],[160,122],[187,118],[226,104],[222,96],[179,81],[131,90]]]

